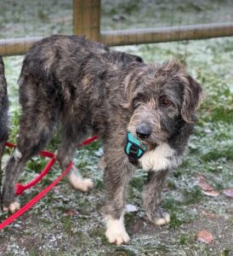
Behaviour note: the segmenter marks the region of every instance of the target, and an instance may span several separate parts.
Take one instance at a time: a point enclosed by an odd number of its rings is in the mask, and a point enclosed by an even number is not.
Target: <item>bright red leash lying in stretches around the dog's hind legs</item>
[[[83,147],[88,145],[89,143],[94,142],[98,137],[90,137],[86,141],[82,142],[81,144],[78,145],[78,147]],[[12,143],[5,143],[6,146],[10,148],[15,148],[15,145]],[[43,157],[48,157],[51,158],[51,160],[48,162],[47,166],[43,169],[43,172],[40,173],[38,177],[36,177],[34,180],[31,181],[31,183],[28,183],[26,185],[22,185],[20,183],[17,183],[16,185],[16,194],[20,195],[23,193],[24,190],[31,188],[34,186],[36,183],[38,183],[50,170],[50,168],[54,165],[55,162],[55,156],[54,153],[48,152],[48,151],[41,151],[40,155]],[[73,166],[73,163],[71,162],[69,166],[65,169],[64,172],[60,175],[60,177],[57,177],[53,183],[50,183],[47,188],[43,189],[38,195],[36,195],[34,198],[31,199],[24,207],[21,207],[18,212],[15,212],[13,215],[11,215],[9,218],[3,221],[2,224],[0,224],[0,230],[3,230],[4,227],[7,225],[11,224],[14,219],[19,218],[24,212],[29,210],[32,206],[34,206],[37,201],[40,201],[44,195],[48,194],[48,192],[54,188],[54,186],[60,182],[60,180],[65,177],[65,175],[71,171],[71,168]]]

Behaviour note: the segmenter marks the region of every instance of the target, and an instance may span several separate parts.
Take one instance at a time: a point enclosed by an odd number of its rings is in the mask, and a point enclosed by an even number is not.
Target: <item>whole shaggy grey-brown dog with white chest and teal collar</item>
[[[169,222],[158,206],[168,170],[180,163],[196,121],[202,88],[175,62],[145,64],[138,56],[110,51],[75,36],[52,36],[34,44],[20,74],[20,136],[6,167],[3,208],[14,212],[14,186],[26,161],[43,149],[62,125],[57,154],[65,168],[77,143],[92,131],[105,153],[105,218],[110,242],[128,242],[124,197],[134,166],[148,172],[143,194],[148,218]],[[68,175],[71,186],[93,183]]]

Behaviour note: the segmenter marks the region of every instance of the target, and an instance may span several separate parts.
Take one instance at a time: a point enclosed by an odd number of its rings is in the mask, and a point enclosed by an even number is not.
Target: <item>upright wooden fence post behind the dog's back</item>
[[[73,0],[73,32],[86,38],[100,39],[101,0]]]

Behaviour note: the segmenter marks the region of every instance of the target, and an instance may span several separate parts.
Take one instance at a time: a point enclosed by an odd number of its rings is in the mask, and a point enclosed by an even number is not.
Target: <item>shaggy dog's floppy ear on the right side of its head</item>
[[[181,116],[187,123],[193,123],[196,120],[196,109],[199,108],[204,98],[204,93],[201,84],[195,79],[190,76],[187,76],[186,79]]]

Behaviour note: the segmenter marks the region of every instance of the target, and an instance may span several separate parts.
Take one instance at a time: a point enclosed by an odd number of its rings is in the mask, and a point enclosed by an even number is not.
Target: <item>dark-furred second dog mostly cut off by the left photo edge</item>
[[[5,142],[9,136],[9,119],[8,119],[8,89],[4,73],[3,58],[0,55],[0,203],[2,190],[2,157],[5,148]]]

